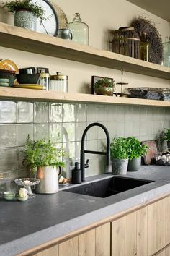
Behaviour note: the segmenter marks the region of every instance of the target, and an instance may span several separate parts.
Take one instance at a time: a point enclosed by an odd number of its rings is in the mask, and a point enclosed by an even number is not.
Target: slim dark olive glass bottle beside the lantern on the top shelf
[[[149,50],[150,43],[147,40],[146,32],[143,32],[140,38],[140,59],[143,61],[149,61]]]

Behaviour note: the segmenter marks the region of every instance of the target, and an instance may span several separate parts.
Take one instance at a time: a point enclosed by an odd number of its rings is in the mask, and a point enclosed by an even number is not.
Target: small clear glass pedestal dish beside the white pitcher
[[[32,193],[31,186],[37,185],[40,182],[40,179],[35,178],[20,178],[15,179],[14,182],[19,185],[23,186],[25,189],[27,189],[27,195],[29,198],[35,197],[35,194]]]

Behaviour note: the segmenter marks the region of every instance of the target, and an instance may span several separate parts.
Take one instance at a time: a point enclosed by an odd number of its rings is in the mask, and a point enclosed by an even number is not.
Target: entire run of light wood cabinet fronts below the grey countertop
[[[34,256],[68,255],[170,256],[170,197],[133,210]]]

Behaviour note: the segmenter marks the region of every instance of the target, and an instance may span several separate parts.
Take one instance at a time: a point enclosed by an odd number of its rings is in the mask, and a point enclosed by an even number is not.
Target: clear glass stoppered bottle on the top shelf
[[[81,22],[79,13],[74,14],[73,21],[68,23],[68,28],[73,35],[72,41],[89,46],[89,27]]]

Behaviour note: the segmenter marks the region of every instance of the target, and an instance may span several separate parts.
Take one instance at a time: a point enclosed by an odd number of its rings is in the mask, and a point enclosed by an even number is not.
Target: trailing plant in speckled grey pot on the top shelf
[[[6,7],[9,12],[14,12],[14,25],[17,27],[36,31],[37,18],[41,21],[48,20],[44,9],[30,0],[6,1],[3,7]]]

